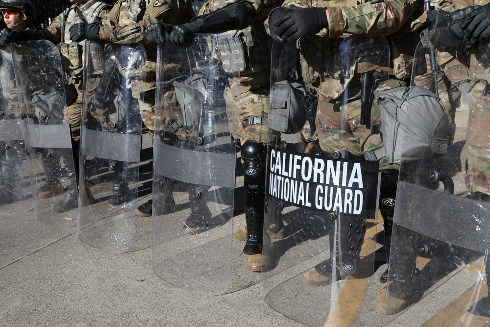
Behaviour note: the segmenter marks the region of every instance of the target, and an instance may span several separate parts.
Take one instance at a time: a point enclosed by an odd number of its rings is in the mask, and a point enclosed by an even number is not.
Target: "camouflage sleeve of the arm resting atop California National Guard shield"
[[[330,16],[329,37],[343,34],[390,35],[409,21],[416,0],[384,0],[362,3],[353,7],[327,7]]]

